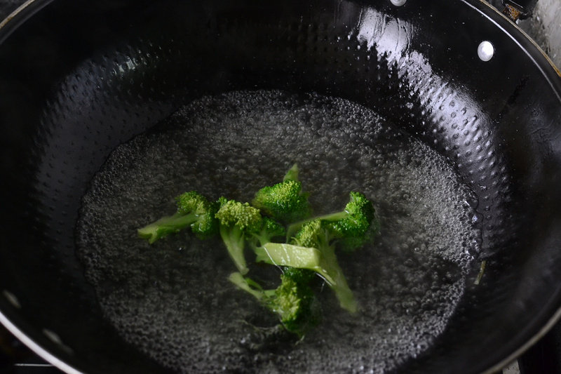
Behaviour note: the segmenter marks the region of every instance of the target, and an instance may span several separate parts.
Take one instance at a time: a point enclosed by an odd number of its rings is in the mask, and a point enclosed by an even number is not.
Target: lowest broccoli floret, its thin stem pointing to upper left
[[[306,331],[318,324],[320,310],[308,284],[310,276],[306,270],[289,269],[285,269],[280,276],[280,285],[274,290],[263,290],[258,283],[240,273],[231,274],[229,279],[277,314],[286,330],[302,338]]]

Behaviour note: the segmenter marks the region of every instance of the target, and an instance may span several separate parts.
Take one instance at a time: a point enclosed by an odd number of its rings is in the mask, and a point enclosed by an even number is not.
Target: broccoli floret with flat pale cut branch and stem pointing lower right
[[[306,222],[292,243],[266,243],[257,248],[257,261],[313,270],[334,290],[339,305],[354,313],[358,305],[337,262],[333,243],[337,236],[328,225],[323,220]]]

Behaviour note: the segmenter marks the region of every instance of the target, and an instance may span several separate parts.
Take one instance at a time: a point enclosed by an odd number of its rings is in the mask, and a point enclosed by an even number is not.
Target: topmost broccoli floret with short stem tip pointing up
[[[252,205],[280,222],[303,220],[310,215],[311,208],[308,194],[302,192],[302,182],[297,178],[298,167],[295,164],[286,173],[283,182],[259,189]]]

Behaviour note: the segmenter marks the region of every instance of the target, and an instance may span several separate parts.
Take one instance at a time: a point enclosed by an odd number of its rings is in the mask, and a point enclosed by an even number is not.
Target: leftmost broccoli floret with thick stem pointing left
[[[168,234],[180,232],[185,227],[191,227],[191,231],[201,239],[217,233],[216,203],[208,201],[205,196],[194,191],[177,196],[176,201],[177,213],[138,229],[138,235],[148,239],[149,243],[154,243]]]

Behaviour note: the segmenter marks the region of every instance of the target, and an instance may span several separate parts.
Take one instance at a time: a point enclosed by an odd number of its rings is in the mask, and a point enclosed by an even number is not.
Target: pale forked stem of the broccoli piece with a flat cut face
[[[351,313],[355,313],[358,304],[354,298],[353,291],[346,283],[343,270],[339,267],[334,248],[328,246],[322,248],[295,246],[287,243],[266,243],[256,248],[257,261],[277,266],[290,266],[300,269],[310,269],[318,273],[332,288],[339,305]]]

